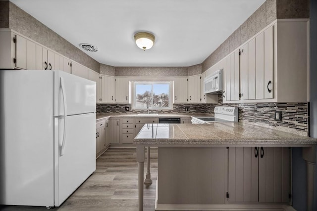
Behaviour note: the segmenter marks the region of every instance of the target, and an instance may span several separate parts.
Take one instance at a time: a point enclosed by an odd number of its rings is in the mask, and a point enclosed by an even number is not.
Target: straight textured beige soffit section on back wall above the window
[[[187,67],[115,67],[115,76],[187,76]]]

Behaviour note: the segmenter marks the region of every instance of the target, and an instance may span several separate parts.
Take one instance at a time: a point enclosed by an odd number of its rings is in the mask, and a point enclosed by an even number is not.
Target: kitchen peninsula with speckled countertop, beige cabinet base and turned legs
[[[291,147],[303,147],[312,209],[317,139],[246,123],[146,124],[134,143],[140,211],[145,147],[158,147],[156,210],[294,210]]]

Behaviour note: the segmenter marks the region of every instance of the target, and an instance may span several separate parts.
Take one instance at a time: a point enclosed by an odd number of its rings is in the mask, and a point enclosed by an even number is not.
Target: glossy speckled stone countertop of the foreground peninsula
[[[135,144],[309,146],[317,139],[246,123],[146,124]]]

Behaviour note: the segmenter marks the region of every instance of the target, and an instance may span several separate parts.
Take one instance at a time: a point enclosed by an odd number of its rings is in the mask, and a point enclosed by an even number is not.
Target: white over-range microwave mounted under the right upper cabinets
[[[204,94],[222,91],[222,70],[217,70],[204,80]]]

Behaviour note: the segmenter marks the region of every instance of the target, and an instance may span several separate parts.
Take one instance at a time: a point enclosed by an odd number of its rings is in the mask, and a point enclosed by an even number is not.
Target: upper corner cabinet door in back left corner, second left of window
[[[101,75],[101,102],[115,103],[115,78]]]

